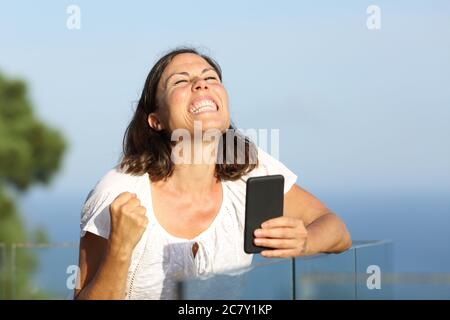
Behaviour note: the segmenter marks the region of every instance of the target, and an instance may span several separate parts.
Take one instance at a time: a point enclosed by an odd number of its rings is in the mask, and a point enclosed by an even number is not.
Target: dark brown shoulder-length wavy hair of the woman
[[[176,48],[161,57],[147,76],[136,111],[128,125],[123,138],[123,154],[120,168],[133,175],[149,174],[151,181],[167,179],[173,173],[175,164],[171,160],[172,147],[170,132],[156,131],[147,122],[148,115],[158,109],[156,93],[159,80],[165,68],[172,59],[182,53],[193,53],[205,59],[219,75],[222,81],[222,70],[219,64],[205,54],[190,47]],[[258,164],[257,148],[248,137],[239,133],[230,125],[227,131],[233,130],[233,143],[226,143],[226,132],[222,134],[218,156],[222,152],[223,159],[232,154],[234,161],[218,161],[215,167],[215,177],[218,180],[237,180],[252,171]],[[245,161],[238,161],[239,145],[244,145]],[[232,150],[230,150],[232,148]],[[230,153],[232,152],[232,153]],[[242,158],[241,158],[242,159]]]

